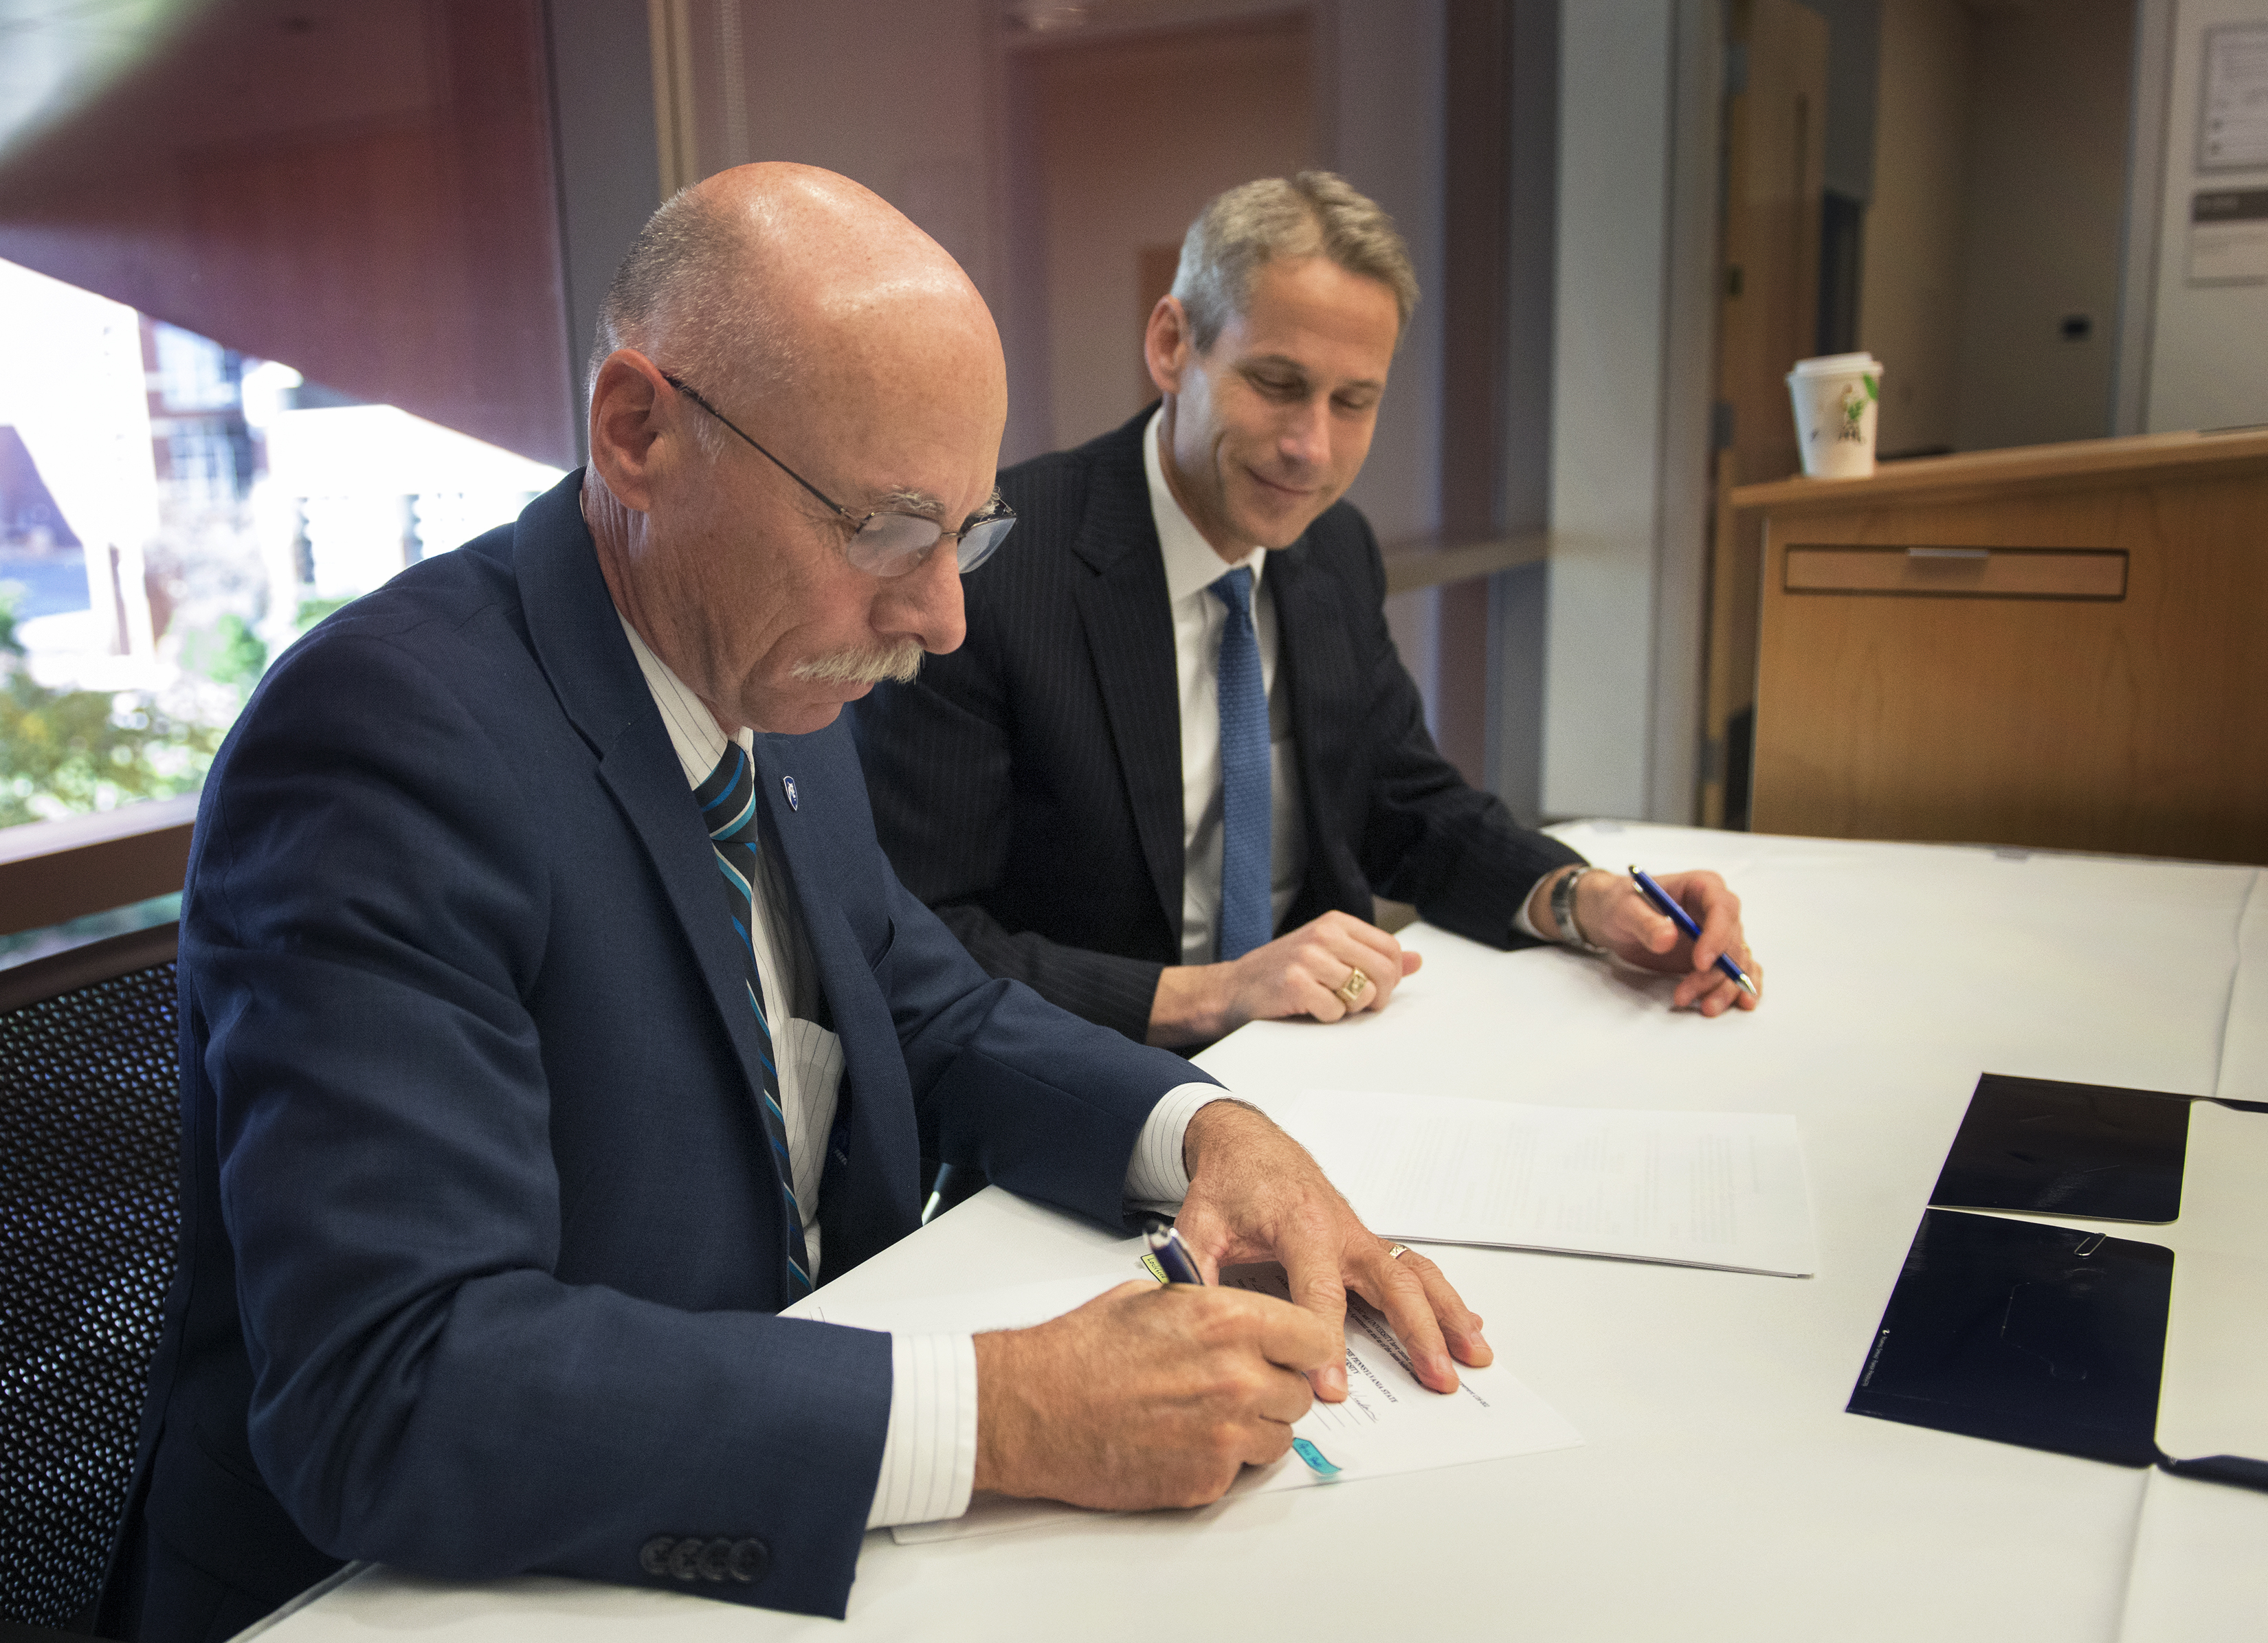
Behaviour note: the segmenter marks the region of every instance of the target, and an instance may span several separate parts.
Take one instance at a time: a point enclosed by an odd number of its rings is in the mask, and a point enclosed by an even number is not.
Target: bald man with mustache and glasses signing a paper
[[[181,906],[181,1274],[113,1636],[220,1638],[338,1568],[560,1573],[844,1614],[869,1527],[973,1489],[1218,1498],[1345,1294],[1427,1385],[1479,1319],[1166,1052],[989,979],[896,882],[844,703],[962,641],[1000,342],[828,172],[649,222],[590,467],[295,646],[222,748]],[[1052,1323],[776,1317],[916,1226],[919,1158],[1209,1276]]]

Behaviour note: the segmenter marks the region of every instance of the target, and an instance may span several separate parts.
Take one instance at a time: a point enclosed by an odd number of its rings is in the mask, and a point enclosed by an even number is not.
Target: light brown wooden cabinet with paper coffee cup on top
[[[1751,825],[2268,861],[2268,433],[1746,485]]]

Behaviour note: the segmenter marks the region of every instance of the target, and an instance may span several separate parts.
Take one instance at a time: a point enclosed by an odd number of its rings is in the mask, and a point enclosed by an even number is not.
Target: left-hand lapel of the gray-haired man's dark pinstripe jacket
[[[1095,462],[1073,553],[1095,571],[1077,589],[1080,625],[1134,805],[1134,836],[1166,927],[1179,934],[1182,705],[1166,560],[1141,458],[1145,419],[1127,424]]]

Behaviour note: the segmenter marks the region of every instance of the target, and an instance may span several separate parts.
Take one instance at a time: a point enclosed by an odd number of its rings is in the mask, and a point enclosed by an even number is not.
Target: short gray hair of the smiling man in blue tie
[[[1173,295],[1200,354],[1232,315],[1245,313],[1254,274],[1279,256],[1329,256],[1349,274],[1379,281],[1395,292],[1395,340],[1408,329],[1417,274],[1395,220],[1338,172],[1261,177],[1213,195],[1182,238]]]

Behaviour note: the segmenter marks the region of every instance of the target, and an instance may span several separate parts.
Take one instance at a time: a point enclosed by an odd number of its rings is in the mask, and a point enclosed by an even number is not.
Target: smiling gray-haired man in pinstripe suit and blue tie
[[[1417,954],[1372,897],[1495,947],[1560,940],[1758,995],[1715,872],[1633,882],[1522,829],[1433,748],[1343,499],[1417,304],[1393,220],[1300,172],[1191,224],[1143,351],[1161,401],[1000,476],[1016,546],[968,578],[968,639],[860,703],[898,875],[998,977],[1152,1045],[1383,1008]]]

